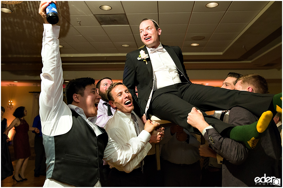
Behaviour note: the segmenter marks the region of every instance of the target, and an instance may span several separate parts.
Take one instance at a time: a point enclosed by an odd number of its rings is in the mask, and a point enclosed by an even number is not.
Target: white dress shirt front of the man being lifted
[[[162,46],[160,43],[158,47]],[[163,52],[156,51],[150,53],[150,48],[147,48],[154,72],[153,91],[170,86],[176,83],[181,83],[177,67],[168,52],[163,49]]]

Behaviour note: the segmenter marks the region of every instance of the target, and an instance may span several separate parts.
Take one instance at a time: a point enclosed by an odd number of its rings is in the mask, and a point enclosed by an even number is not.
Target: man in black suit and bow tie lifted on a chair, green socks
[[[146,119],[152,114],[199,134],[186,122],[187,114],[195,106],[202,110],[205,120],[219,133],[231,125],[206,115],[205,111],[229,110],[234,106],[241,106],[258,117],[267,110],[271,110],[274,115],[276,110],[282,111],[282,93],[275,96],[246,95],[240,91],[192,84],[186,74],[180,47],[161,44],[161,29],[156,29],[155,23],[150,19],[141,22],[139,33],[145,46],[126,55],[123,83],[134,97],[135,112],[140,117]],[[139,97],[134,96],[135,87]],[[234,100],[228,100],[230,98]],[[251,129],[255,128],[252,127]],[[235,135],[234,131],[235,129],[229,128],[223,134]],[[251,138],[258,138],[258,133],[254,133],[256,135],[250,134],[247,137],[247,133],[238,134],[234,139],[252,148],[256,143],[250,141]]]

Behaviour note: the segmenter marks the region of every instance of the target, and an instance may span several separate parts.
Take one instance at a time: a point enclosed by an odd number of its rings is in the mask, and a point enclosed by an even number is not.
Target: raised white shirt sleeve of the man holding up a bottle
[[[63,102],[63,70],[59,52],[60,26],[43,24],[42,73],[39,113],[42,133],[54,136],[67,133],[72,126],[69,107]]]

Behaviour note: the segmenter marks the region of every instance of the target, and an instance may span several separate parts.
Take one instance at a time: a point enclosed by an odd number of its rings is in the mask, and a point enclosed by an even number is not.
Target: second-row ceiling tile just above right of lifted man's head
[[[189,24],[191,13],[159,13],[159,24]]]

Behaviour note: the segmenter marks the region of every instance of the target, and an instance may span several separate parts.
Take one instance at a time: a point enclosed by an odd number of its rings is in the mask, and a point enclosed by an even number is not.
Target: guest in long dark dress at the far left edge
[[[5,108],[1,106],[1,180],[13,175],[13,164],[7,144],[8,136],[4,133],[7,128],[7,119],[2,118]]]

